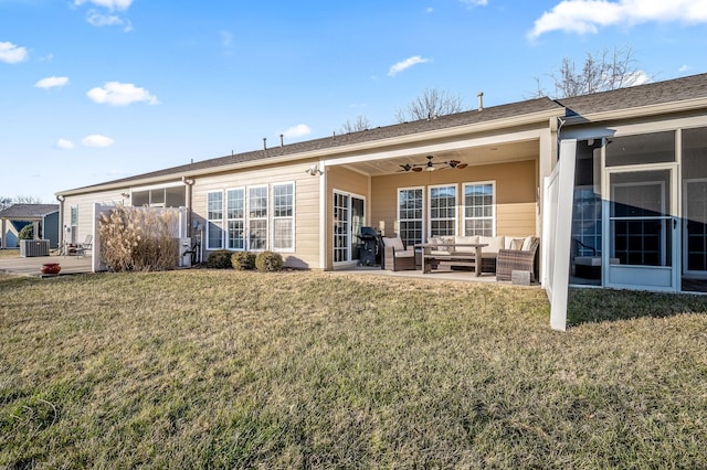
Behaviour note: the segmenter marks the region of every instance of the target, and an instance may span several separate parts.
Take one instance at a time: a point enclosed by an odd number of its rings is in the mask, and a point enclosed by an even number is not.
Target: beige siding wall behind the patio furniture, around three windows
[[[462,184],[495,181],[496,184],[496,234],[497,235],[536,235],[536,160],[513,163],[485,164],[467,167],[462,170],[437,170],[401,172],[386,177],[377,177],[371,181],[372,225],[384,234],[397,233],[398,189],[423,186],[425,194],[425,212],[428,207],[428,188],[441,184],[457,184],[460,204],[458,229],[462,229]],[[428,214],[425,214],[425,229]]]

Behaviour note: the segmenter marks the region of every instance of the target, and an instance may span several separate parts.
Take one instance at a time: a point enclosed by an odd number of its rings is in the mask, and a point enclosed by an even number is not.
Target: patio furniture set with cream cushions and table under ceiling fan
[[[526,275],[529,281],[537,280],[536,254],[540,239],[535,236],[444,236],[413,246],[405,246],[400,236],[382,239],[383,269],[421,269],[429,274],[473,268],[475,276],[492,273],[500,281],[510,281],[514,271]]]

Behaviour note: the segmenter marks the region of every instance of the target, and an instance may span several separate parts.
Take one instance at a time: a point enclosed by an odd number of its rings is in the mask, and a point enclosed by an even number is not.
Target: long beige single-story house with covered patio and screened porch
[[[357,263],[362,226],[409,245],[538,236],[563,329],[569,285],[707,290],[707,74],[281,138],[57,199],[68,242],[94,233],[95,203],[183,206],[204,256],[270,249],[323,270]]]

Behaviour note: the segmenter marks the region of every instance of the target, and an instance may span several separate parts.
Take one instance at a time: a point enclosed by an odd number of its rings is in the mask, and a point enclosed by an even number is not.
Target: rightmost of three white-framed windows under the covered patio
[[[464,183],[464,235],[496,235],[496,183]]]

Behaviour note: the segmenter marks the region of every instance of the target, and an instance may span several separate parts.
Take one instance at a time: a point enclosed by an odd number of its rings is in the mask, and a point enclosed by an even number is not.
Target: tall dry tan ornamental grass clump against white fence
[[[98,222],[101,260],[113,271],[156,271],[177,267],[178,223],[172,211],[114,207]]]

